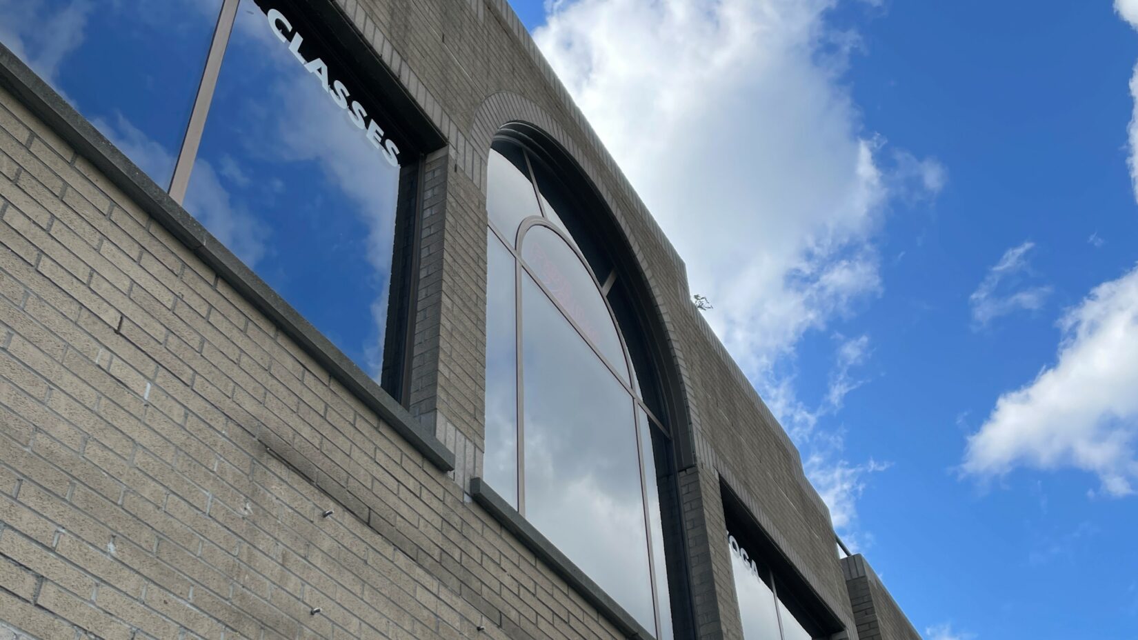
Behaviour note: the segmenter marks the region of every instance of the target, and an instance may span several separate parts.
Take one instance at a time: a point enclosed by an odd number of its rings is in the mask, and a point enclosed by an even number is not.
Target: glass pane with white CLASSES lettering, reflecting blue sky
[[[378,377],[399,171],[283,38],[241,1],[185,207]]]

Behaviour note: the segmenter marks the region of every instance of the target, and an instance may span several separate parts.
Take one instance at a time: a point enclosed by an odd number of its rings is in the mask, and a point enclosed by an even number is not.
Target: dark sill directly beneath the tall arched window
[[[470,478],[470,495],[475,502],[486,509],[506,531],[534,552],[554,573],[561,576],[570,588],[579,593],[588,604],[596,607],[599,614],[611,622],[621,633],[634,640],[652,640],[654,635],[648,632],[636,618],[612,599],[600,585],[593,582],[585,572],[575,565],[547,538],[521,514],[510,506],[501,495],[481,478]]]

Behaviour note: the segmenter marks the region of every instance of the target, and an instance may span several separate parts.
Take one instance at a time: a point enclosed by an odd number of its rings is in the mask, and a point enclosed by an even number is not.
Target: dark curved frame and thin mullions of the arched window
[[[663,549],[660,550],[661,558],[663,559],[662,565],[659,560],[650,560],[652,596],[653,599],[663,598],[670,600],[671,616],[669,625],[675,630],[676,638],[683,637],[687,631],[694,631],[695,625],[694,602],[691,599],[691,574],[687,561],[688,543],[686,532],[682,525],[682,515],[679,514],[681,506],[676,477],[678,471],[690,468],[694,461],[691,445],[685,442],[686,438],[677,440],[673,433],[671,425],[687,426],[686,402],[682,399],[682,392],[676,392],[678,388],[678,372],[673,354],[667,346],[669,343],[662,330],[662,318],[659,315],[654,302],[651,302],[651,295],[645,295],[648,292],[648,279],[641,271],[634,257],[635,253],[620,230],[620,225],[611,214],[604,198],[592,184],[586,172],[571,158],[568,151],[533,125],[521,122],[506,124],[494,137],[494,142],[495,145],[500,142],[510,143],[520,148],[522,151],[520,154],[521,157],[511,161],[511,163],[514,164],[516,169],[526,174],[534,189],[537,205],[537,215],[523,218],[518,223],[518,228],[512,233],[512,237],[498,229],[489,218],[487,219],[487,229],[490,236],[501,243],[514,261],[513,329],[516,359],[514,400],[517,402],[517,432],[514,441],[514,446],[517,448],[517,509],[525,517],[525,364],[522,355],[523,319],[521,310],[521,282],[522,273],[525,273],[628,393],[633,400],[633,421],[638,420],[636,418],[637,413],[642,413],[645,418],[644,426],[636,427],[637,462],[643,478],[641,486],[645,519],[649,517],[648,492],[650,490],[659,492],[659,508],[661,511],[666,508],[675,511],[675,515],[668,514],[665,516],[668,520],[665,528],[668,530],[671,527],[674,531],[666,531]],[[523,166],[519,166],[520,163],[525,163]],[[541,178],[538,177],[538,167],[544,172]],[[561,204],[568,205],[569,211],[562,211],[561,206],[554,208],[553,204],[543,197],[543,178],[555,181],[554,188],[559,192],[558,195],[564,198]],[[553,196],[551,195],[550,198],[553,199]],[[580,220],[580,216],[574,215],[582,212],[595,212],[596,215],[589,214],[587,220]],[[594,252],[600,253],[608,261],[607,274],[603,282],[594,269],[594,264],[591,263],[582,245],[579,245],[578,238],[575,237],[574,232],[576,229],[567,224],[567,220],[583,223],[580,227],[586,233],[587,239],[591,243],[597,244],[597,246],[593,247]],[[596,222],[601,222],[601,224],[594,225]],[[561,304],[558,297],[543,282],[534,266],[522,257],[526,237],[535,227],[544,227],[553,231],[556,237],[569,246],[577,261],[588,273],[589,280],[601,295],[608,319],[612,322],[613,329],[617,333],[624,360],[622,364],[628,371],[627,378],[619,375],[613,366],[615,363],[603,354],[594,340],[588,338],[572,314],[569,313],[564,305]],[[612,240],[616,241],[613,243]],[[613,293],[612,289],[618,279],[626,281],[622,287],[625,292],[624,306],[626,309],[624,318],[613,307],[613,301],[610,298],[610,294]],[[635,300],[629,300],[633,297]],[[646,301],[648,304],[645,304]],[[652,313],[652,311],[657,313]],[[632,320],[632,322],[629,323],[628,320]],[[622,322],[625,326],[622,326]],[[641,363],[646,363],[650,371],[637,371],[633,347],[626,338],[626,330],[641,330],[644,334],[640,340],[641,351],[644,352],[642,353]],[[649,404],[648,397],[642,391],[642,384],[655,385],[654,400],[659,405]],[[660,440],[666,442],[663,452],[658,450],[658,438],[654,436],[660,436]],[[646,443],[648,452],[645,452],[645,442],[642,438],[651,441]],[[649,473],[644,460],[646,453],[655,458],[652,465],[657,469],[657,477],[649,477],[646,475]],[[661,461],[667,465],[666,470],[659,467]],[[661,483],[663,482],[668,482],[671,485],[669,487],[671,491],[665,492],[661,489]],[[665,507],[666,502],[668,502],[667,507]],[[648,549],[650,557],[654,557],[652,544],[653,541],[650,535]],[[658,572],[665,572],[663,575],[667,576],[663,580],[667,583],[668,593],[659,593],[657,583]],[[657,607],[657,629],[661,629],[659,607]]]

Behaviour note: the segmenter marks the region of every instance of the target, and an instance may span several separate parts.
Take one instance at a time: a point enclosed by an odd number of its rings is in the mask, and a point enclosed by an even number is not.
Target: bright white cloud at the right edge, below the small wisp
[[[1096,287],[1059,327],[1056,363],[1005,393],[968,438],[963,471],[1016,467],[1096,474],[1110,495],[1138,479],[1138,268]]]

